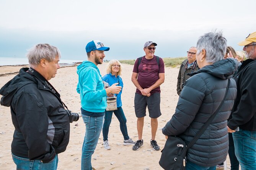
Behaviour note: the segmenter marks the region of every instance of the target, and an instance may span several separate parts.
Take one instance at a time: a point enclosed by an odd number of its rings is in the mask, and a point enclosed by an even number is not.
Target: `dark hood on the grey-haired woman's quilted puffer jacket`
[[[235,59],[228,58],[217,61],[212,65],[204,66],[197,72],[188,73],[188,75],[192,76],[201,72],[207,72],[220,79],[230,79],[237,68],[238,62]]]

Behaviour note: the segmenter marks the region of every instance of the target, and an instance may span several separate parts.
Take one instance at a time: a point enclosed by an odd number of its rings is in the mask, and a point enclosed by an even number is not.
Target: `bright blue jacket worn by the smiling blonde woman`
[[[115,94],[117,96],[116,97],[117,107],[122,107],[121,94],[122,94],[122,90],[123,90],[123,87],[124,87],[124,83],[123,83],[122,78],[119,75],[117,75],[117,77],[116,77],[115,75],[112,75],[111,73],[109,73],[109,74],[106,74],[106,75],[103,76],[103,80],[105,82],[109,83],[110,86],[113,85],[114,83],[119,83],[117,85],[122,87],[120,93]]]

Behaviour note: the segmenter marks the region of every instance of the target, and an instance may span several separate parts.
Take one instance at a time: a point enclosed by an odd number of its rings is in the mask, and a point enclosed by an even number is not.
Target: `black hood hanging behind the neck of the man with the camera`
[[[38,83],[38,80],[35,77],[26,72],[28,69],[28,67],[21,68],[19,74],[0,89],[0,95],[2,95],[0,103],[2,106],[9,107],[15,93],[24,85],[29,83],[37,83],[38,86],[42,85],[41,83]]]

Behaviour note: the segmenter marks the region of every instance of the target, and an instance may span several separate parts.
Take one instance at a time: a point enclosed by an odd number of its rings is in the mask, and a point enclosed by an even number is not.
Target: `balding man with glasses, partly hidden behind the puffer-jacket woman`
[[[199,68],[196,63],[196,47],[191,47],[187,51],[188,59],[185,59],[179,67],[178,81],[177,81],[177,93],[181,93],[184,83],[189,79],[188,73],[196,72]]]

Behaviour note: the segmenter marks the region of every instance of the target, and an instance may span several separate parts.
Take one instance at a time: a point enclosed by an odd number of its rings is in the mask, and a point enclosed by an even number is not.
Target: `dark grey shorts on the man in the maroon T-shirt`
[[[160,93],[153,93],[151,96],[143,96],[135,93],[134,109],[136,117],[144,117],[146,115],[146,107],[148,106],[149,117],[158,118],[160,111]]]

